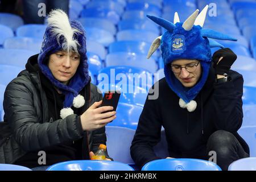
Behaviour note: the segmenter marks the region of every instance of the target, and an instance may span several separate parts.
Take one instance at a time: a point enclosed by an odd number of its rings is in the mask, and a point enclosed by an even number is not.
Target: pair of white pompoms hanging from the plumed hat
[[[84,96],[81,96],[78,94],[76,97],[73,99],[73,106],[76,108],[80,108],[85,104],[85,99]],[[60,110],[60,118],[64,119],[68,115],[74,114],[73,109],[71,107],[66,107]]]

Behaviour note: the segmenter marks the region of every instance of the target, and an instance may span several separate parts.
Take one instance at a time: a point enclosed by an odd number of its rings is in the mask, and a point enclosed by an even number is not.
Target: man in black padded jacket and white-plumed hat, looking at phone
[[[115,118],[113,107],[99,107],[102,94],[90,83],[84,28],[62,10],[51,11],[47,21],[39,55],[6,88],[11,136],[0,163],[42,166],[39,151],[46,152],[46,166],[90,159],[106,144],[105,125]]]

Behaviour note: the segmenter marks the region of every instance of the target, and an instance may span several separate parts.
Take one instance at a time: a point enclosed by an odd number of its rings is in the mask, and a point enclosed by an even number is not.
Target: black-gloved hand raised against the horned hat
[[[212,61],[215,74],[224,75],[224,73],[228,73],[236,59],[237,55],[230,48],[223,48],[214,52]]]

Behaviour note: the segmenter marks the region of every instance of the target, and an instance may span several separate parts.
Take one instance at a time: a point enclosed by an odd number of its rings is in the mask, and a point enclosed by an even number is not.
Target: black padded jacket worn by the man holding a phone
[[[11,137],[0,151],[1,163],[39,166],[39,151],[46,152],[46,165],[67,160],[89,159],[89,151],[106,144],[105,127],[82,131],[80,115],[102,99],[97,87],[87,84],[80,94],[85,105],[75,114],[61,119],[64,94],[57,93],[37,64],[38,55],[31,56],[26,70],[7,85],[3,107],[4,121],[9,123]],[[108,157],[108,156],[107,156]]]

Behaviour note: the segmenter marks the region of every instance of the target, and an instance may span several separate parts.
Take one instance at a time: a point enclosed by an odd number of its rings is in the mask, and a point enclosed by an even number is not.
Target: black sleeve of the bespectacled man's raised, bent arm
[[[236,73],[238,75],[238,73]],[[243,78],[241,75],[232,81],[214,83],[213,109],[216,113],[214,124],[217,130],[236,132],[242,125]]]

